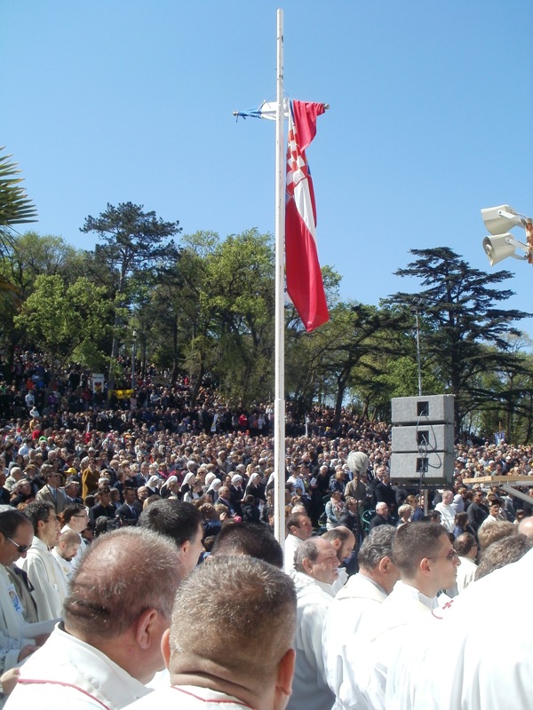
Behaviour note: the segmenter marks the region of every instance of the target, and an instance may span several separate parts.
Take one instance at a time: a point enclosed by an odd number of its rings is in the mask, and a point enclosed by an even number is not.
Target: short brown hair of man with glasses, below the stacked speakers
[[[414,574],[425,557],[435,556],[446,528],[437,523],[406,523],[398,528],[393,541],[393,562],[402,575]]]

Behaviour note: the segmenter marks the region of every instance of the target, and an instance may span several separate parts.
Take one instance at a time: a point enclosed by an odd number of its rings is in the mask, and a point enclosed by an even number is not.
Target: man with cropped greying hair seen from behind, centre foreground
[[[219,599],[231,612],[221,613]],[[248,556],[212,558],[180,586],[163,635],[171,685],[128,710],[284,710],[295,622],[287,574]]]

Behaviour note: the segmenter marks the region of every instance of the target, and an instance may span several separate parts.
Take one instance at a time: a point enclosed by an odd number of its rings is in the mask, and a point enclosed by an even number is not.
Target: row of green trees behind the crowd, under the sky
[[[87,217],[98,234],[91,251],[60,237],[13,234],[0,255],[0,346],[43,351],[53,367],[73,359],[109,369],[110,386],[128,381],[119,361],[137,352],[136,375],[187,375],[193,397],[209,382],[238,406],[272,401],[274,392],[274,245],[256,229],[221,239],[213,232],[179,236],[130,202]],[[343,300],[340,278],[322,269],[330,321],[306,333],[285,307],[285,385],[302,421],[316,404],[351,402],[387,419],[392,397],[418,393],[413,309],[418,309],[425,394],[456,396],[457,433],[533,436],[533,356],[516,327],[528,314],[505,307],[507,272],[480,272],[446,247],[413,250],[401,277],[421,288],[379,306]],[[7,368],[6,371],[8,371]]]

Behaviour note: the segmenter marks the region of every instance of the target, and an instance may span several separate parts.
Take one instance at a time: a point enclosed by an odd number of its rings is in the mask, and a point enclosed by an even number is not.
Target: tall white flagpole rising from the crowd
[[[274,535],[285,549],[285,143],[283,139],[283,11],[277,11],[275,111]]]

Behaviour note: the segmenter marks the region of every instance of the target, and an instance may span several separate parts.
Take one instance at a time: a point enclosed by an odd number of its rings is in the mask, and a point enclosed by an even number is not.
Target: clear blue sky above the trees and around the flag
[[[184,233],[273,233],[274,122],[232,111],[275,98],[280,5],[286,93],[330,104],[307,157],[341,295],[415,290],[393,275],[410,248],[489,272],[480,209],[533,214],[530,0],[4,2],[0,145],[35,229],[92,248],[84,218],[132,201]],[[531,266],[495,268],[533,311]]]

